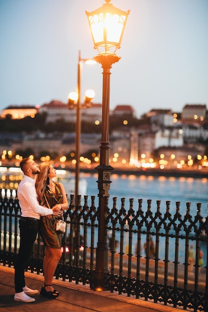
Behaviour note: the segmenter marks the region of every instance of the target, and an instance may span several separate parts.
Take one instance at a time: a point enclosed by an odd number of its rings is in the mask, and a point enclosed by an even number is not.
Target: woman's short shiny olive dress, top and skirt
[[[61,186],[58,182],[55,182],[55,193],[53,193],[48,186],[46,186],[44,206],[52,208],[55,204],[61,204],[63,202],[63,194]],[[39,222],[39,232],[43,240],[44,246],[48,248],[61,248],[62,233],[55,230],[55,221],[61,219],[53,215],[41,216]]]

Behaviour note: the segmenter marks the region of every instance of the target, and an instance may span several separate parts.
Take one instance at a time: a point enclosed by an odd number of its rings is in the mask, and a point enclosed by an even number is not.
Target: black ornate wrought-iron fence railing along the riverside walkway
[[[3,195],[2,195],[3,194]],[[93,288],[98,212],[95,196],[70,195],[67,222],[62,241],[62,258],[55,272],[56,279],[89,284]],[[105,287],[111,292],[162,303],[175,308],[206,312],[208,307],[208,216],[201,216],[201,203],[191,215],[180,214],[180,202],[170,213],[170,201],[161,213],[161,202],[151,207],[142,199],[125,202],[113,198],[109,207],[106,198],[105,238],[109,243],[109,273]],[[192,207],[193,211],[193,207]],[[0,263],[12,267],[19,246],[18,219],[20,207],[16,193],[0,190]],[[201,258],[203,254],[203,258]],[[44,248],[38,236],[27,270],[42,273]]]

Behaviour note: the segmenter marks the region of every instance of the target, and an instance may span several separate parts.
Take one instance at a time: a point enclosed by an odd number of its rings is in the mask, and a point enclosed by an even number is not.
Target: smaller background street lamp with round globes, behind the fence
[[[77,202],[77,195],[79,194],[79,164],[80,164],[80,135],[81,135],[81,63],[84,62],[86,64],[95,64],[95,60],[92,58],[81,58],[79,51],[78,55],[78,72],[77,72],[77,91],[70,92],[68,96],[68,106],[72,108],[74,104],[74,108],[76,108],[76,129],[75,129],[75,157],[76,157],[76,165],[75,165],[75,202]],[[89,90],[87,90],[89,91]],[[87,92],[86,91],[86,92]],[[90,90],[92,91],[92,90]],[[94,91],[93,91],[94,92]],[[91,100],[94,98],[95,94],[89,95],[89,93],[85,93],[85,104],[91,103]],[[86,105],[87,106],[87,105]],[[88,105],[89,107],[90,105]],[[86,107],[85,107],[86,108]]]

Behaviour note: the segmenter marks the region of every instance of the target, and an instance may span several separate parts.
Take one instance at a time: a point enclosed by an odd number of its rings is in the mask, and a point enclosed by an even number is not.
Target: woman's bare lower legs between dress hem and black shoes
[[[58,262],[61,258],[61,249],[45,247],[45,256],[43,260],[43,272],[45,285],[52,285],[53,275],[55,273]],[[46,286],[47,292],[53,291],[51,286]]]

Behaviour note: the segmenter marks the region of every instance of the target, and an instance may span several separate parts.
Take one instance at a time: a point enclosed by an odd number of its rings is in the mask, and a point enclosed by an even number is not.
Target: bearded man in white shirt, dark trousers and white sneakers
[[[25,285],[24,270],[30,257],[34,241],[36,240],[40,215],[45,216],[53,214],[55,216],[61,216],[63,212],[60,211],[57,206],[48,209],[47,207],[39,205],[34,179],[35,175],[40,172],[38,164],[27,157],[20,162],[20,168],[24,176],[17,189],[21,216],[19,220],[20,245],[14,274],[14,300],[34,302],[35,299],[28,295],[38,294],[38,290],[32,290]]]

